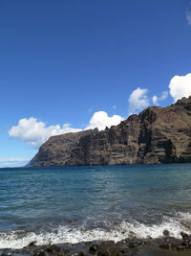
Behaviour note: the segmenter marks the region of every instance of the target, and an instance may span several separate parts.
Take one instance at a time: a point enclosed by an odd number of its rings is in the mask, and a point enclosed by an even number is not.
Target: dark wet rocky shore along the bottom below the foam
[[[115,244],[107,242],[82,242],[79,244],[48,244],[36,245],[32,242],[22,249],[0,250],[1,256],[188,256],[191,255],[191,235],[181,232],[181,239],[169,236],[168,230],[163,231],[159,239],[138,239],[132,237]]]

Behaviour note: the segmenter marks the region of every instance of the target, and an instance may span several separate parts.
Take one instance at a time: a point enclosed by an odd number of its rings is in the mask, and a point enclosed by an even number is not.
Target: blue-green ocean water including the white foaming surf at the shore
[[[191,233],[191,164],[0,169],[0,248]]]

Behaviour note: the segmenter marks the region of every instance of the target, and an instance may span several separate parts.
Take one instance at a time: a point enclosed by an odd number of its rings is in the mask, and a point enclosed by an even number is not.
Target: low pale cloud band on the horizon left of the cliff
[[[18,167],[29,162],[30,158],[0,157],[0,167]]]

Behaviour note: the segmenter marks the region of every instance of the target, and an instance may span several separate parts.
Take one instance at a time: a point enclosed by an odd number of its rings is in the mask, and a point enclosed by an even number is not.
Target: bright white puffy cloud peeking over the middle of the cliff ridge
[[[106,127],[117,126],[124,118],[118,115],[113,115],[111,117],[105,111],[96,112],[90,120],[89,125],[85,128],[98,128],[102,130]]]

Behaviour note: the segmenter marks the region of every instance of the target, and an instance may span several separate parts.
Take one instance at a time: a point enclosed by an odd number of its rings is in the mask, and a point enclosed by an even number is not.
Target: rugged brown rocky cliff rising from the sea
[[[191,97],[151,106],[117,127],[53,136],[30,166],[191,162]]]

